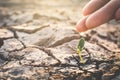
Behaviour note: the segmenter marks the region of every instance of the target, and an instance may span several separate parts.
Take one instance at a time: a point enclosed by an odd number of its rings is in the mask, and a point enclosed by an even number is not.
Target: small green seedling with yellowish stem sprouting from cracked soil
[[[82,58],[82,50],[84,49],[84,44],[85,44],[85,39],[84,38],[81,38],[80,41],[79,41],[79,44],[77,46],[77,53],[80,57],[80,61],[82,63],[84,63],[84,60]]]

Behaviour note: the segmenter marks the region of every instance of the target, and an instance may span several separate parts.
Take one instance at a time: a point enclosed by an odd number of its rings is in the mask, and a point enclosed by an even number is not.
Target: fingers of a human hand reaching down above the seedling
[[[84,7],[83,15],[76,25],[78,32],[97,27],[112,19],[120,20],[120,0],[91,0]]]

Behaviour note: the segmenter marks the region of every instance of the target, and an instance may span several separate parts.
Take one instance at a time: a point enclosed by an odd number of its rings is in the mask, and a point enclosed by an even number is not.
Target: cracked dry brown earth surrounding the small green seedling
[[[0,8],[0,80],[120,80],[120,24],[78,33],[81,5],[68,2]],[[76,53],[81,37],[85,64]]]

